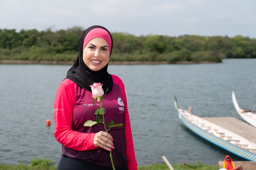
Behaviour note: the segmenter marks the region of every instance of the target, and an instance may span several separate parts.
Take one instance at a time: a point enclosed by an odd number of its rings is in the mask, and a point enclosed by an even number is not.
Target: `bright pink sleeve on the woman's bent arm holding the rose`
[[[93,150],[95,133],[80,133],[72,130],[72,115],[76,97],[76,84],[65,79],[61,82],[54,100],[54,136],[65,147],[78,151]]]

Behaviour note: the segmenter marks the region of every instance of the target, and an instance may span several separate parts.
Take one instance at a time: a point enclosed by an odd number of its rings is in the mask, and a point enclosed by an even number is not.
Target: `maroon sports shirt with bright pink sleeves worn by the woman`
[[[113,120],[114,124],[124,124],[109,131],[115,147],[112,150],[113,161],[115,167],[128,166],[129,170],[134,170],[137,169],[137,163],[124,84],[119,77],[112,75],[112,78],[113,89],[106,94],[105,101],[102,100],[102,105],[106,108],[105,123],[108,125]],[[97,148],[93,144],[95,134],[105,131],[103,124],[83,126],[87,120],[96,121],[94,112],[99,108],[99,104],[96,101],[93,106],[91,100],[93,97],[90,91],[69,79],[63,80],[54,101],[54,136],[63,145],[62,155],[99,166],[112,167],[109,151]]]

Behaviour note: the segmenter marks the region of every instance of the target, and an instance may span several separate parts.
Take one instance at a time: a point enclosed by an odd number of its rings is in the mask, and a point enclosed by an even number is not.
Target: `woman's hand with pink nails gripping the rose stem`
[[[95,134],[93,144],[95,147],[101,147],[107,151],[114,149],[113,138],[108,132],[99,131]]]

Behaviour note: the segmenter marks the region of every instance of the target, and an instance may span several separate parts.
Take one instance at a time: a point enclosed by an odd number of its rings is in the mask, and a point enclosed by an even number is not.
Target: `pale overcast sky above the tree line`
[[[0,0],[0,29],[256,38],[256,0]]]

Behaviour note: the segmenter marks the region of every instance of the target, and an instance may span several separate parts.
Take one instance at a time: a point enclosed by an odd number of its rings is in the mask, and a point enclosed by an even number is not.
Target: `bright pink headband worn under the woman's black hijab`
[[[102,28],[94,28],[86,34],[86,36],[84,38],[84,42],[83,42],[83,49],[91,39],[96,38],[96,37],[105,39],[106,42],[108,43],[109,51],[111,51],[111,45],[112,45],[111,37],[110,37],[108,31],[106,31]]]

